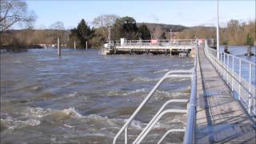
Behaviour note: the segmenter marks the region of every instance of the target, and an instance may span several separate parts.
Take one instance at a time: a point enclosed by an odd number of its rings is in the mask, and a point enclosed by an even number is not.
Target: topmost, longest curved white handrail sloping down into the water
[[[127,143],[127,131],[128,131],[128,126],[130,125],[130,122],[132,122],[135,118],[135,116],[138,114],[140,110],[142,110],[142,107],[146,104],[146,102],[149,101],[151,96],[154,94],[154,92],[158,89],[158,87],[162,84],[162,82],[166,78],[172,77],[171,75],[173,74],[174,78],[183,78],[184,74],[192,73],[193,71],[191,70],[170,70],[168,71],[155,85],[152,90],[150,90],[150,93],[147,94],[146,98],[141,102],[141,104],[138,106],[138,108],[134,111],[134,113],[130,116],[130,118],[126,121],[124,126],[118,131],[118,134],[115,135],[113,144],[117,141],[118,137],[122,134],[122,132],[125,130],[125,143]],[[179,75],[178,75],[179,74]]]

